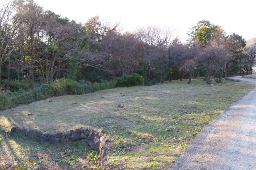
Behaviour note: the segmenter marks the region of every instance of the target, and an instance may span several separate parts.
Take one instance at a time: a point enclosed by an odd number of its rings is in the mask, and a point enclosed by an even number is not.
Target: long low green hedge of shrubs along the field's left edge
[[[81,95],[98,90],[136,85],[144,85],[143,77],[136,73],[123,75],[110,81],[101,81],[100,83],[91,83],[88,81],[80,81],[79,83],[78,81],[67,78],[56,79],[52,84],[42,84],[28,91],[24,89],[18,89],[18,91],[14,92],[10,90],[3,91],[0,94],[0,111],[54,96]]]

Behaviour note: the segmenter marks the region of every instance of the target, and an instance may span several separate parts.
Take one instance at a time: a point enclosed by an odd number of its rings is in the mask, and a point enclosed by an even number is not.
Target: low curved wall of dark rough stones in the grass
[[[51,144],[68,144],[73,141],[80,140],[84,146],[90,146],[92,150],[99,150],[102,166],[109,157],[109,146],[106,143],[106,134],[102,131],[88,127],[77,128],[76,130],[68,130],[64,132],[48,133],[37,129],[27,129],[14,126],[11,128],[10,135],[26,136],[32,140],[36,140],[41,144],[50,142]]]

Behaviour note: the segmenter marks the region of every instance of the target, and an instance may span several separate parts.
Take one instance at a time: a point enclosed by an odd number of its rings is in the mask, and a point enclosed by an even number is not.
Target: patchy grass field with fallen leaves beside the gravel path
[[[48,132],[76,127],[103,128],[113,150],[102,169],[167,169],[198,132],[254,85],[223,81],[172,81],[150,87],[124,87],[61,97],[0,112],[0,128],[14,125]],[[76,103],[76,104],[72,104]],[[118,103],[123,109],[118,109]],[[32,116],[28,116],[32,113]],[[1,130],[0,129],[0,130]],[[88,148],[39,144],[27,138],[0,134],[0,165],[35,159],[40,168],[100,169],[88,160]]]

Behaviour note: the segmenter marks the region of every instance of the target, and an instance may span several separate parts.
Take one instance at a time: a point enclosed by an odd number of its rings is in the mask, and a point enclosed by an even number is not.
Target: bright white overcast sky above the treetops
[[[200,20],[221,26],[227,34],[256,38],[256,0],[34,0],[45,10],[82,22],[99,16],[120,21],[122,32],[138,27],[170,27],[182,43]]]

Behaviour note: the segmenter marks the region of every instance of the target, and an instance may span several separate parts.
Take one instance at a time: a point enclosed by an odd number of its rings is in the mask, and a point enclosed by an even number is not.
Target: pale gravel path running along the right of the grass
[[[256,169],[256,88],[204,127],[169,170],[185,169]]]

